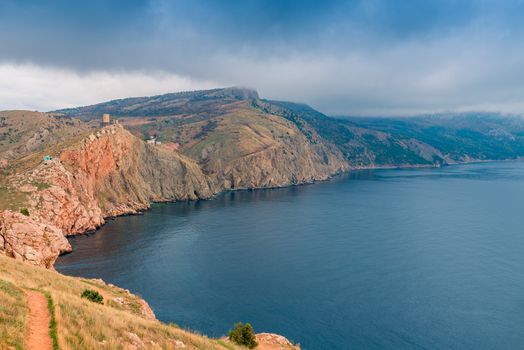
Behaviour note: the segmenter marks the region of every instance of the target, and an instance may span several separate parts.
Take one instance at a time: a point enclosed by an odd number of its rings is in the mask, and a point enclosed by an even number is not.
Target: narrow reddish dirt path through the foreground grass
[[[32,290],[26,291],[25,294],[29,307],[26,348],[28,350],[52,350],[53,341],[49,335],[51,315],[47,308],[47,298],[42,293]]]

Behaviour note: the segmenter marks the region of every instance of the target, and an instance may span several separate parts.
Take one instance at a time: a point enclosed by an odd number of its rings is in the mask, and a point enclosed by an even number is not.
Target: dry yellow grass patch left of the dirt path
[[[24,292],[0,279],[0,349],[23,349],[27,320]]]

